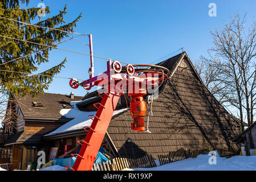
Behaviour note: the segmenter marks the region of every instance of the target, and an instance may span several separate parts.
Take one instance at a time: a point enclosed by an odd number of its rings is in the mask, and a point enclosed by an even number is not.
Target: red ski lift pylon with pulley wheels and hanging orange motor
[[[91,68],[90,70],[94,70]],[[140,77],[141,73],[144,73],[144,77]],[[152,73],[154,76],[152,77]],[[101,142],[104,139],[105,133],[107,131],[109,122],[111,121],[113,111],[121,94],[123,94],[123,88],[120,88],[119,92],[116,90],[111,91],[113,85],[116,85],[119,81],[125,80],[128,84],[127,86],[132,86],[133,92],[128,95],[131,96],[130,102],[130,111],[133,117],[133,123],[131,123],[131,129],[135,132],[145,131],[145,122],[144,117],[146,115],[146,104],[143,99],[143,96],[147,94],[147,88],[155,88],[158,86],[155,84],[157,81],[158,84],[164,82],[169,75],[169,70],[165,67],[159,65],[150,65],[150,64],[125,64],[121,65],[119,61],[108,60],[107,61],[107,71],[101,73],[98,76],[93,76],[90,74],[88,80],[79,82],[76,78],[70,80],[70,86],[73,89],[77,89],[79,86],[82,86],[86,90],[90,90],[93,86],[103,86],[107,85],[108,93],[99,93],[99,96],[102,97],[100,103],[94,104],[97,108],[95,115],[89,115],[93,121],[90,127],[84,130],[87,131],[86,139],[79,140],[78,143],[82,144],[82,148],[79,151],[79,154],[73,154],[76,156],[76,161],[73,167],[66,167],[67,170],[74,171],[91,171],[92,165],[94,164],[97,152]],[[105,79],[107,78],[107,79]],[[115,80],[113,83],[111,80]],[[139,90],[135,91],[135,86],[139,84]],[[142,87],[142,84],[146,84],[147,88]],[[139,91],[139,92],[138,92]]]

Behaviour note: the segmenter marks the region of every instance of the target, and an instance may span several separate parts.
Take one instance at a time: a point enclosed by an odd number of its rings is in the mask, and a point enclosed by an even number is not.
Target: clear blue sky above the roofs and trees
[[[192,61],[213,46],[210,30],[222,27],[222,21],[229,21],[230,15],[247,12],[247,25],[255,17],[256,1],[152,1],[152,0],[32,0],[28,7],[44,3],[50,7],[50,14],[42,19],[59,13],[67,4],[66,23],[74,20],[81,12],[82,18],[74,28],[75,32],[92,34],[94,55],[125,61],[131,64],[149,64],[159,60],[181,47]],[[216,3],[217,16],[208,15],[209,3]],[[25,5],[22,8],[27,8]],[[88,43],[87,36],[79,39]],[[60,44],[60,48],[89,53],[89,47],[71,40]],[[178,52],[176,52],[178,53]],[[170,55],[169,57],[174,56]],[[59,64],[67,57],[66,68],[58,76],[86,80],[90,57],[61,50],[50,53],[50,63],[40,65],[39,71]],[[168,57],[165,57],[168,59]],[[161,59],[155,63],[158,63]],[[106,70],[106,61],[95,59],[95,74]],[[83,96],[86,90],[70,88],[69,80],[54,78],[46,92]]]

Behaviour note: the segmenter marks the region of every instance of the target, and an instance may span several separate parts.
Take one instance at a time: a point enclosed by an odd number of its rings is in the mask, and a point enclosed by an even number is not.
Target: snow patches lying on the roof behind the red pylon
[[[92,124],[92,119],[88,117],[88,115],[96,114],[96,111],[81,111],[76,104],[79,104],[80,102],[84,101],[72,101],[70,102],[70,105],[73,106],[74,108],[72,109],[62,109],[59,111],[61,115],[67,118],[74,118],[71,121],[67,122],[66,124],[58,127],[58,129],[52,131],[49,134],[46,134],[44,136],[50,136],[58,133],[64,133],[67,131],[74,131],[74,130],[79,130],[83,129],[83,127],[88,127],[91,126]],[[115,110],[113,115],[119,114],[123,111],[127,110],[125,109],[120,109],[120,110]]]

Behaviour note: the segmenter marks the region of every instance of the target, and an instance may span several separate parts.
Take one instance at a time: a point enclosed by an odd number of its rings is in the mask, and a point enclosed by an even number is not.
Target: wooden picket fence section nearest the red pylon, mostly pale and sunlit
[[[156,167],[152,155],[146,155],[139,159],[114,158],[107,162],[96,163],[92,171],[121,171],[125,168],[151,168]]]

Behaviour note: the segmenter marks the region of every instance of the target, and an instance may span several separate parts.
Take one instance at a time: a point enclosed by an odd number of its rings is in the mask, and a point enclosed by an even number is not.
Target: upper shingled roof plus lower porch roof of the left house
[[[82,100],[83,97],[70,95],[44,93],[40,94],[38,98],[32,98],[26,96],[24,98],[15,98],[19,109],[23,114],[25,121],[39,121],[39,122],[60,122],[60,124],[70,121],[72,118],[63,117],[60,114],[60,110],[63,109],[63,105],[70,105],[71,101]],[[35,105],[39,105],[36,107]],[[42,124],[42,123],[41,123]],[[39,124],[39,125],[41,125]],[[42,129],[43,132],[44,129]],[[11,136],[6,142],[5,146],[12,144],[38,144],[41,141],[41,137],[44,133],[25,133],[22,128],[17,130],[13,136]]]

